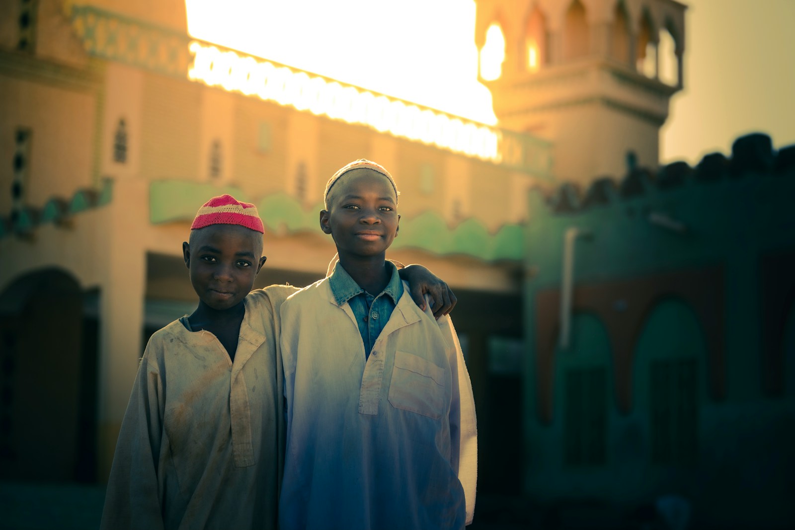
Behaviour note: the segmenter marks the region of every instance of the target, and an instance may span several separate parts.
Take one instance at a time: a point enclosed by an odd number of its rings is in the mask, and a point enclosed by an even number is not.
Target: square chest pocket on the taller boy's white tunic
[[[438,420],[444,406],[444,369],[417,355],[395,352],[389,401],[394,408]]]

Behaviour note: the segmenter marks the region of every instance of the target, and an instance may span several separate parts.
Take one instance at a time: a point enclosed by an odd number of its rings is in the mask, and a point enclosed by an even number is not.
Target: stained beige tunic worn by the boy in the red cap
[[[146,346],[122,422],[102,528],[276,528],[284,462],[281,303],[246,296],[235,362],[180,321]]]

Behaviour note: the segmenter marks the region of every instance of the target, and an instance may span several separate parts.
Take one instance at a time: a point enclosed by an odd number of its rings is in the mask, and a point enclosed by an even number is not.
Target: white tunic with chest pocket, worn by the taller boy
[[[430,304],[426,304],[429,307]],[[475,509],[471,384],[447,316],[405,286],[369,358],[328,279],[281,307],[282,530],[463,528]]]

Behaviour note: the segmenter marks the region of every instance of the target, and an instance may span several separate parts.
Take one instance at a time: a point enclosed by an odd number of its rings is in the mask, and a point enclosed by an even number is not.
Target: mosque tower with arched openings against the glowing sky
[[[654,168],[683,86],[675,0],[475,0],[479,79],[506,129],[554,143],[559,180]]]

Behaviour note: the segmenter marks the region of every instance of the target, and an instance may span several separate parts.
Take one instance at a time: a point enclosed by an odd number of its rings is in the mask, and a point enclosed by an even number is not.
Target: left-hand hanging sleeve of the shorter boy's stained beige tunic
[[[163,528],[157,467],[162,438],[164,385],[146,346],[130,403],[118,433],[107,483],[102,530]]]

